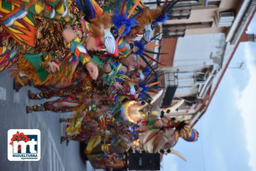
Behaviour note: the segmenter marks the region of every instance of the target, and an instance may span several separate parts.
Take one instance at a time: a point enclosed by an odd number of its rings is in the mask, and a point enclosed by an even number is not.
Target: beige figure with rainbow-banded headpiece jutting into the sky
[[[190,128],[188,121],[176,121],[174,118],[164,117],[143,122],[141,128],[145,134],[140,138],[140,146],[149,153],[155,153],[162,148],[172,148],[179,137],[188,142],[198,140],[198,132]]]

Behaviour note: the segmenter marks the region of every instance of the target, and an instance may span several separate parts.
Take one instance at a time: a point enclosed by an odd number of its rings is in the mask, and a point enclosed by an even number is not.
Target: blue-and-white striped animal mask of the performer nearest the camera
[[[109,55],[118,57],[118,41],[119,36],[115,27],[104,30],[104,45]]]

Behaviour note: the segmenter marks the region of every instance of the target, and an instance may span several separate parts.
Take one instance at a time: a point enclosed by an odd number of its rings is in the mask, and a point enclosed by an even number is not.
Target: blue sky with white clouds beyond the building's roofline
[[[256,34],[256,15],[247,33]],[[256,43],[240,43],[207,112],[195,125],[197,142],[174,147],[188,160],[169,154],[163,171],[256,171]]]

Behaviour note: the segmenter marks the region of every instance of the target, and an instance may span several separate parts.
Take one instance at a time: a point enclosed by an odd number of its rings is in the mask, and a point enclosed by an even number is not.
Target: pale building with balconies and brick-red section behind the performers
[[[158,65],[165,73],[159,81],[166,87],[157,102],[168,107],[185,99],[167,116],[195,125],[205,113],[239,42],[256,41],[256,35],[245,33],[255,6],[256,0],[180,0],[172,8],[170,20],[156,29],[163,34],[152,42],[161,44],[154,50],[167,53],[154,56],[164,64]]]

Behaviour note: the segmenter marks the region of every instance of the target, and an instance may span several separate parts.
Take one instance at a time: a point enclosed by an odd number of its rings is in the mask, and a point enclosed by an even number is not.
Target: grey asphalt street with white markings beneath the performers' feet
[[[26,105],[42,103],[30,100],[28,90],[38,92],[34,87],[13,90],[13,80],[8,71],[0,72],[0,171],[92,171],[89,162],[79,154],[79,142],[60,144],[65,123],[61,117],[70,113],[32,112],[26,113]],[[9,129],[39,129],[41,131],[41,159],[39,161],[9,161],[7,159],[7,131]]]

